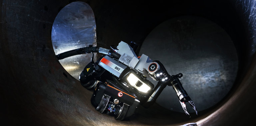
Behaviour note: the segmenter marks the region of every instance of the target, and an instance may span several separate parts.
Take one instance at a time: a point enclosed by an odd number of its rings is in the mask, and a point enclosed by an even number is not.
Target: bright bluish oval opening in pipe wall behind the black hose
[[[91,7],[84,2],[68,4],[58,13],[52,26],[52,45],[55,54],[91,44],[96,46],[96,24]],[[78,79],[90,59],[90,54],[84,54],[68,57],[59,62],[70,75]]]

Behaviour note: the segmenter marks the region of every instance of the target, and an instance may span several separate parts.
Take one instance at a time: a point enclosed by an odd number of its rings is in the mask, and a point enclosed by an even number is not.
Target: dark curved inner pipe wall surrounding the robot
[[[55,58],[51,29],[58,12],[72,0],[0,0],[1,119],[9,125],[246,125],[252,122],[256,94],[254,1],[99,1],[88,3],[95,14],[97,45],[109,48],[120,40],[142,43],[158,24],[193,15],[221,26],[238,53],[238,78],[214,107],[191,119],[161,111],[156,104],[140,108],[126,121],[97,112],[91,91],[70,76]],[[160,112],[159,112],[160,111]]]

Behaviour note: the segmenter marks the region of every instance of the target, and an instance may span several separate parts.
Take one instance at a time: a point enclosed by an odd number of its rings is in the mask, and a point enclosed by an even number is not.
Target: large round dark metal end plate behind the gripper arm
[[[198,111],[215,105],[229,92],[238,69],[236,49],[229,35],[200,17],[178,17],[160,24],[143,42],[139,55],[142,53],[161,61],[171,75],[183,73],[181,82]],[[172,90],[165,88],[156,102],[183,112]]]

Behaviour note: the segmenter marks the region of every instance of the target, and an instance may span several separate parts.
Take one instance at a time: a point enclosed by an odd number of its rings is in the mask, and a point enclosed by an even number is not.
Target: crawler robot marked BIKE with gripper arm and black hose
[[[131,116],[139,105],[146,108],[151,106],[167,85],[172,86],[188,116],[186,102],[197,114],[194,102],[179,80],[183,75],[169,75],[160,61],[153,61],[147,55],[137,57],[134,51],[137,47],[134,42],[127,44],[121,41],[111,49],[90,45],[56,57],[60,60],[78,54],[92,54],[91,62],[81,72],[79,80],[83,87],[94,90],[91,103],[95,109],[117,120]],[[103,55],[94,62],[93,53]],[[148,78],[158,81],[157,85],[154,87]]]

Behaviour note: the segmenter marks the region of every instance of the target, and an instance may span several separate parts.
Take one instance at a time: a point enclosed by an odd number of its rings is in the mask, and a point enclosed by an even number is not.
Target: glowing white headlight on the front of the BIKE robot
[[[150,90],[150,87],[145,84],[144,82],[142,82],[138,77],[136,77],[134,74],[130,74],[127,78],[128,82],[135,87],[136,89],[138,89],[140,92],[148,92]],[[136,84],[140,82],[142,83],[142,85],[140,87],[136,86]]]

